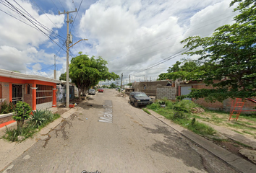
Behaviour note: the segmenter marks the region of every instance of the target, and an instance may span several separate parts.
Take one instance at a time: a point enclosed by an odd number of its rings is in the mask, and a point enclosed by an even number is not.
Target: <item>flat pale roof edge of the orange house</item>
[[[52,83],[56,83],[56,84],[61,83],[61,81],[59,81],[57,79],[51,79],[51,78],[46,78],[43,76],[37,76],[37,75],[31,75],[31,74],[21,74],[18,72],[8,71],[8,70],[4,70],[4,69],[0,69],[0,76],[14,78],[14,79],[48,81],[48,82],[52,82]]]

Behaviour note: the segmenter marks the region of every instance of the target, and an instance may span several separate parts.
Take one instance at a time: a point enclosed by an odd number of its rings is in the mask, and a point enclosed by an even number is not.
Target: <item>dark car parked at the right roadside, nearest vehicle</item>
[[[142,105],[152,104],[152,99],[147,96],[144,92],[131,92],[129,94],[130,102],[135,105],[135,107],[139,107]]]

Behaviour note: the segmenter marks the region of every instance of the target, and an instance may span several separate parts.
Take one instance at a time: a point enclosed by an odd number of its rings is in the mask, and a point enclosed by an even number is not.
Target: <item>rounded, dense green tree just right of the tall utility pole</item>
[[[91,58],[88,55],[80,55],[72,58],[69,65],[69,77],[78,88],[80,97],[81,92],[85,92],[90,89],[91,86],[95,86],[99,81],[110,81],[118,79],[119,76],[113,72],[108,72],[107,61],[94,56]]]

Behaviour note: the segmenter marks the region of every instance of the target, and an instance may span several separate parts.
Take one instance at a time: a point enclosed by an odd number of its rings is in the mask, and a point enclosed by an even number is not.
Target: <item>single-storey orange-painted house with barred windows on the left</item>
[[[56,79],[0,69],[0,105],[4,101],[14,105],[22,101],[33,110],[56,107],[56,84],[60,83]],[[4,123],[1,119],[0,115],[0,124]]]

